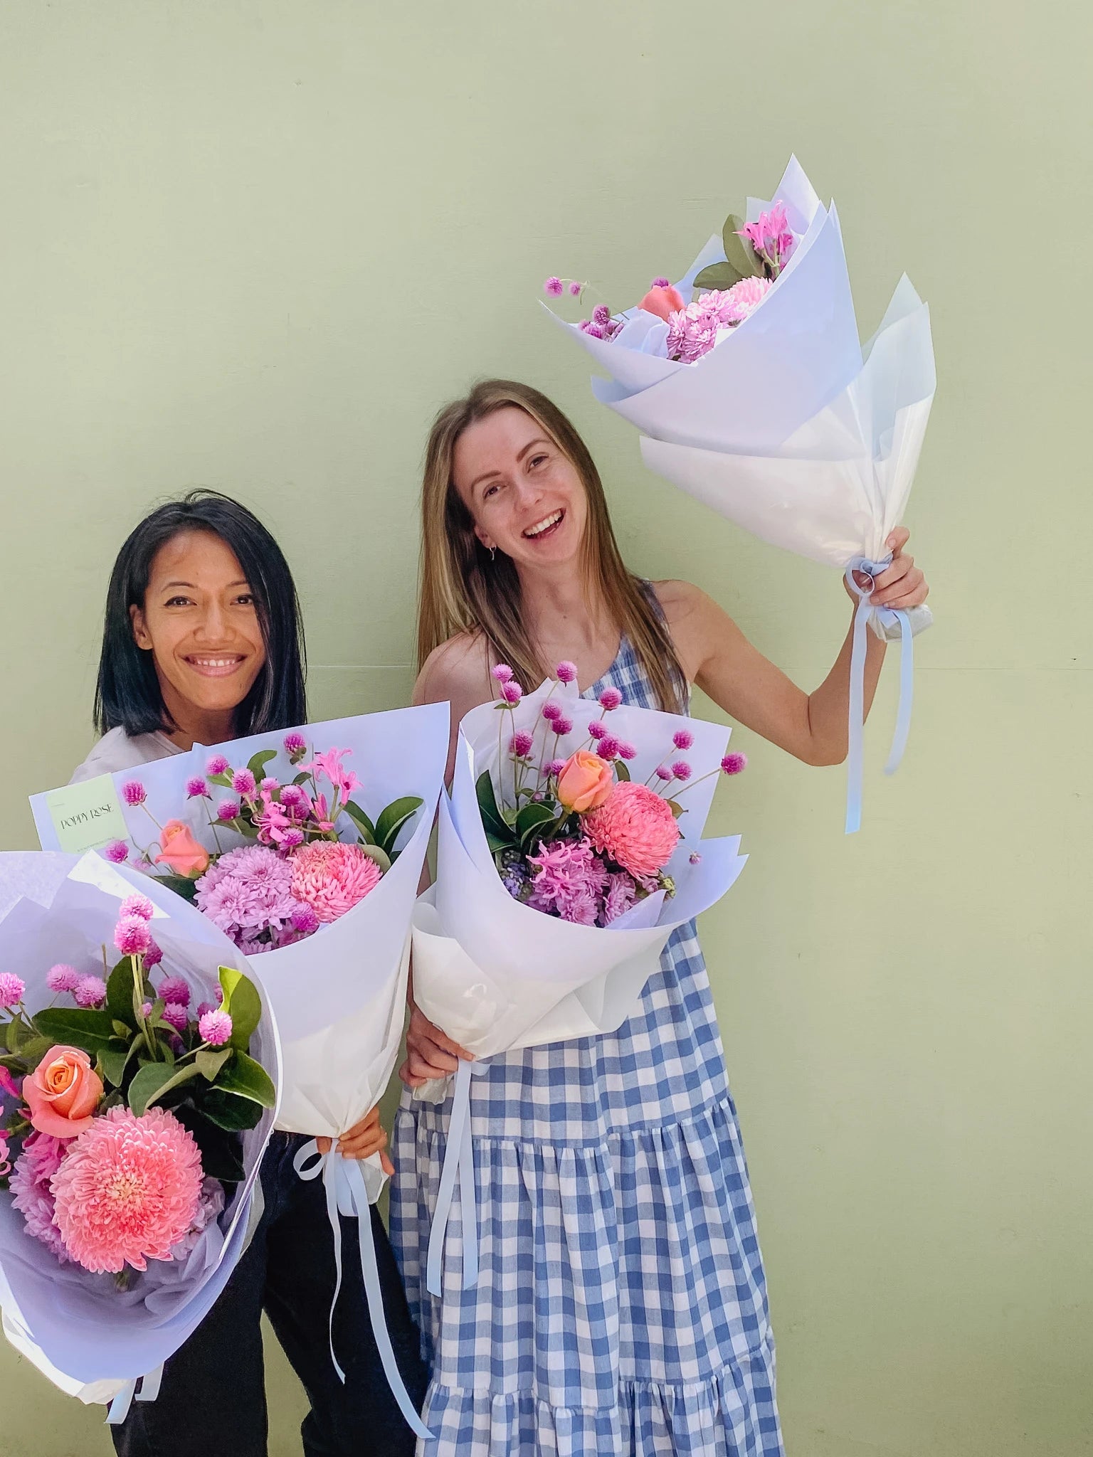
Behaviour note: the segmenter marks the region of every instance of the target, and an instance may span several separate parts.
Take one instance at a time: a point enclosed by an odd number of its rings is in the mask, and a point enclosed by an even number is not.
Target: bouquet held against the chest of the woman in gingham
[[[739,835],[701,839],[717,777],[743,768],[727,728],[632,708],[611,688],[590,702],[573,664],[557,673],[525,695],[500,666],[498,701],[463,717],[437,879],[414,916],[414,998],[478,1062],[621,1026],[672,931],[746,858]],[[471,1069],[461,1062],[455,1081],[434,1292],[456,1170],[462,1279],[477,1278]],[[418,1096],[443,1097],[446,1081]]]

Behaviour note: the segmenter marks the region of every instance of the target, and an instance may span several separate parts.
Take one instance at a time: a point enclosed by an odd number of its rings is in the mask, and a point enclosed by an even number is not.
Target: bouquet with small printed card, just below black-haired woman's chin
[[[127,833],[108,839],[101,854],[143,867],[150,884],[159,880],[192,900],[256,959],[281,1026],[281,1129],[337,1139],[391,1081],[405,1017],[410,922],[447,739],[447,705],[430,704],[195,745],[143,765],[138,775],[122,771],[105,785],[74,787],[96,803],[112,797],[118,807]],[[76,817],[70,791],[35,796],[31,804],[51,848],[64,816]],[[338,1211],[364,1214],[357,1227],[367,1282],[375,1276],[367,1205],[385,1183],[379,1155],[357,1164],[337,1151],[312,1158],[310,1148],[299,1171],[326,1180],[337,1238]],[[375,1285],[373,1332],[417,1429],[377,1276]]]

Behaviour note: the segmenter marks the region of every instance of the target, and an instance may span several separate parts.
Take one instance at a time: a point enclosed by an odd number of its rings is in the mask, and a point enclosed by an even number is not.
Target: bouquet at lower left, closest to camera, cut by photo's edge
[[[35,860],[54,863],[44,895]],[[141,879],[0,857],[4,1329],[85,1399],[121,1391],[117,1421],[242,1253],[280,1083],[243,959]]]

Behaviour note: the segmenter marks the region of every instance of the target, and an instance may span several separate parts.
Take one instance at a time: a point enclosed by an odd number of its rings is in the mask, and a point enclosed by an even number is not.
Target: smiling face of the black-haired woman
[[[179,728],[230,717],[265,663],[255,600],[232,548],[213,532],[172,536],[152,559],[144,606],[130,608]],[[223,734],[227,737],[227,734]]]

